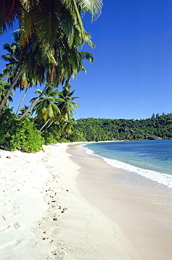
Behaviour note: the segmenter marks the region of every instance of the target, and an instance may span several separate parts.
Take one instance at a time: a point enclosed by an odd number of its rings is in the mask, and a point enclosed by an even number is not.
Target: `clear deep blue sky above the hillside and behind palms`
[[[84,23],[96,48],[83,50],[95,61],[71,80],[80,97],[74,117],[145,119],[172,112],[172,1],[104,0],[99,19],[91,23],[85,15]],[[0,40],[3,53],[9,34]],[[33,96],[31,91],[25,103]],[[16,93],[11,106],[20,98]]]

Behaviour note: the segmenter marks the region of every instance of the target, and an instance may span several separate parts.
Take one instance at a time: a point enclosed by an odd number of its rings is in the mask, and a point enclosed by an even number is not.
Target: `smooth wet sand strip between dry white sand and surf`
[[[69,147],[71,159],[80,166],[80,193],[110,219],[131,259],[172,259],[172,189],[111,167],[80,145]]]

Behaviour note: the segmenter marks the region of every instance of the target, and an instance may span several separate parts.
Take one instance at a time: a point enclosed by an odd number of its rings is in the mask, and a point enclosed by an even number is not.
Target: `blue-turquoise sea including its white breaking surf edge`
[[[172,140],[90,143],[83,148],[113,167],[172,188]]]

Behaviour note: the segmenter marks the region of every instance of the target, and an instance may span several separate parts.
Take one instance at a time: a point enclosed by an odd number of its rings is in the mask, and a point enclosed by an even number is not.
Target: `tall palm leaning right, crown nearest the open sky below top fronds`
[[[63,84],[65,80],[66,82],[69,82],[71,76],[76,77],[76,74],[78,72],[82,70],[85,71],[85,68],[83,67],[84,60],[89,60],[90,62],[94,61],[94,56],[92,55],[92,53],[88,53],[86,51],[78,51],[75,46],[73,46],[73,48],[70,49],[69,46],[65,43],[65,41],[62,41],[57,44],[59,44],[59,48],[56,48],[55,53],[57,64],[50,65],[48,58],[44,58],[43,60],[44,66],[42,67],[41,72],[45,70],[45,67],[48,67],[46,77],[48,83],[45,86],[43,92],[40,93],[40,96],[33,100],[29,108],[24,112],[24,114],[19,118],[19,120],[25,117],[25,115],[27,115],[27,112],[29,112],[34,107],[34,105],[36,105],[38,100],[40,100],[41,96],[43,96],[43,94],[49,86],[53,86],[53,84]],[[40,55],[38,55],[38,53],[40,53]],[[41,49],[38,50],[38,53],[37,55],[39,57],[44,57],[43,53],[41,53]],[[38,71],[39,67],[36,67],[36,72]],[[34,77],[38,76],[36,75]]]

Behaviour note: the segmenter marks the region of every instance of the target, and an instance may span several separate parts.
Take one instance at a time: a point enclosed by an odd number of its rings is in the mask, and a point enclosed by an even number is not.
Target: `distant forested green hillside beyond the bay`
[[[143,140],[172,138],[172,114],[148,119],[78,119],[71,141]]]

